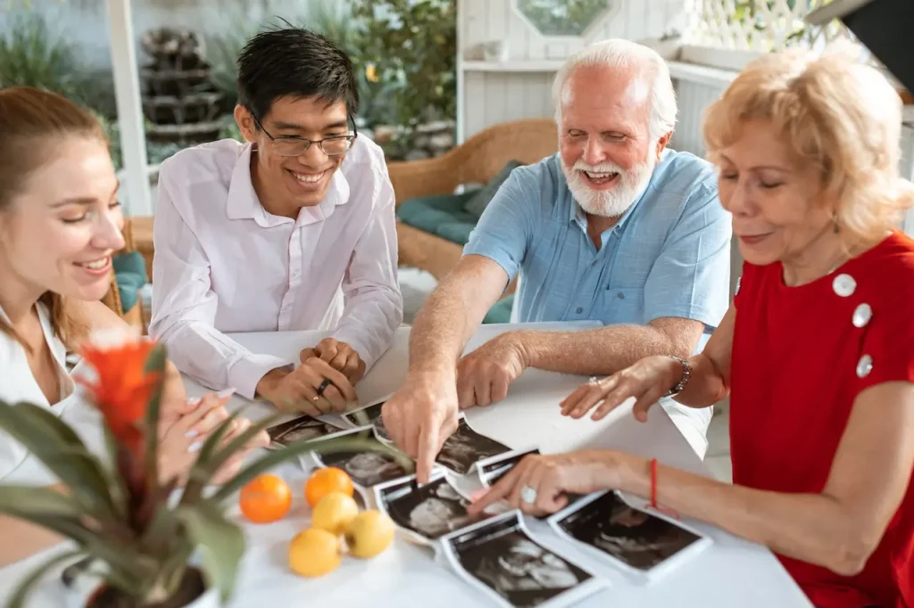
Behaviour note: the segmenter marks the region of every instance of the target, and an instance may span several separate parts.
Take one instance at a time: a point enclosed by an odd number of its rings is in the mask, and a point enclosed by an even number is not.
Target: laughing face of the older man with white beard
[[[579,66],[561,97],[559,150],[571,194],[589,214],[625,213],[669,135],[652,141],[651,85],[629,68]]]

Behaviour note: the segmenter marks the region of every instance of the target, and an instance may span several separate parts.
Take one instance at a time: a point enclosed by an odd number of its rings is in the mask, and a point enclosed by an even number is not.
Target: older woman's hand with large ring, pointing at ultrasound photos
[[[565,508],[569,494],[615,489],[622,482],[621,458],[608,450],[586,450],[550,456],[526,456],[468,509],[481,513],[499,500],[530,515]]]

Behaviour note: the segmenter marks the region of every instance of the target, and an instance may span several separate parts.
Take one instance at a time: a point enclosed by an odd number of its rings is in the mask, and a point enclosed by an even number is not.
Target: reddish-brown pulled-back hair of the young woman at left
[[[48,162],[60,140],[85,137],[107,144],[101,124],[72,101],[46,90],[31,87],[0,89],[0,213],[9,211],[27,177]],[[65,343],[85,328],[67,313],[67,302],[58,293],[41,297],[48,306],[51,324]],[[0,332],[13,330],[0,320]]]

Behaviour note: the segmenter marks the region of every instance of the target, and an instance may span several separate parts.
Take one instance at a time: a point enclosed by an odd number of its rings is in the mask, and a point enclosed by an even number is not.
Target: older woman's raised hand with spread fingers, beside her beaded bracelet
[[[580,418],[596,406],[591,418],[600,420],[634,397],[634,417],[647,422],[647,410],[679,382],[682,373],[682,363],[672,357],[646,357],[607,378],[581,384],[561,402],[562,415]]]

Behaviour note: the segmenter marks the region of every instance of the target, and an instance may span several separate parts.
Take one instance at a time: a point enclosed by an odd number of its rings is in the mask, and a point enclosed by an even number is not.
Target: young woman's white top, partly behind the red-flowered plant
[[[54,335],[51,327],[48,309],[43,304],[37,304],[38,319],[41,320],[41,329],[44,330],[45,341],[54,356],[60,383],[60,399],[57,404],[49,404],[45,393],[32,375],[28,366],[26,349],[5,331],[0,331],[0,400],[7,404],[27,402],[29,404],[45,407],[49,412],[62,416],[62,414],[79,398],[74,394],[74,383],[67,372],[67,348],[63,342]],[[9,318],[0,308],[0,319],[7,324]],[[45,484],[50,480],[45,477],[43,466],[28,457],[29,452],[5,431],[0,430],[0,481],[4,483],[35,483]],[[35,466],[33,466],[35,465]],[[37,468],[36,468],[37,466]]]

